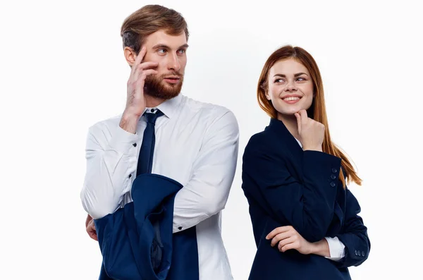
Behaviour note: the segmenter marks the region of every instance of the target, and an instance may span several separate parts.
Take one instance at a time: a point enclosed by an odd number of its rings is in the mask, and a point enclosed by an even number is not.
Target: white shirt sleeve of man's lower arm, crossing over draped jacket
[[[238,122],[231,111],[208,128],[190,181],[176,194],[173,233],[189,229],[225,207],[235,176],[238,139]]]

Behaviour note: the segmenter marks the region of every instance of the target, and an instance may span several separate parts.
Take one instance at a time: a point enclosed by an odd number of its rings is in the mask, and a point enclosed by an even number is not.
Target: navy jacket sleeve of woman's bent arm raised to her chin
[[[245,195],[256,200],[275,221],[293,226],[307,241],[320,241],[333,218],[341,159],[306,150],[299,180],[288,171],[292,163],[280,152],[263,146],[250,140],[245,148]]]

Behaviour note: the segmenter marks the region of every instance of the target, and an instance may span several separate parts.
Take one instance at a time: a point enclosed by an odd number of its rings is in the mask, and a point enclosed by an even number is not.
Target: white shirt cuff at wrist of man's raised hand
[[[117,126],[109,146],[122,154],[137,155],[137,141],[139,135],[130,133]]]

